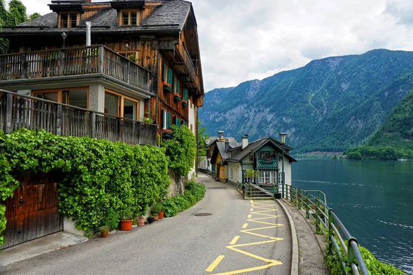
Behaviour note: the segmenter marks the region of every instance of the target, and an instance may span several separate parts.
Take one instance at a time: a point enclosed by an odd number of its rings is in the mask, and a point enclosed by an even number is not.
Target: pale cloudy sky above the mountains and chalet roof
[[[28,14],[50,0],[22,0]],[[192,0],[205,91],[326,56],[413,50],[412,0]]]

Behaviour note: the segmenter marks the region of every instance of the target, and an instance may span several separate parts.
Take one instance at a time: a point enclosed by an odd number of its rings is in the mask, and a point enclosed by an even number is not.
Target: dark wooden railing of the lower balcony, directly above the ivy
[[[156,145],[158,126],[0,90],[0,130],[21,128]]]

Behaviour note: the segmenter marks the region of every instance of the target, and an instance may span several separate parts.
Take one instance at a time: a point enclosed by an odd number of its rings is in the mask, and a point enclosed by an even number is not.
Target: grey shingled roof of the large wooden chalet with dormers
[[[148,1],[148,0],[146,0]],[[149,0],[148,2],[153,2]],[[92,33],[110,33],[110,32],[127,32],[127,33],[146,33],[146,32],[176,32],[179,33],[184,27],[185,22],[192,10],[192,5],[188,1],[183,0],[159,0],[162,5],[156,6],[155,10],[145,18],[141,25],[138,26],[118,26],[117,12],[109,5],[103,5],[93,17],[87,19],[92,23]],[[109,2],[103,2],[108,4]],[[99,4],[103,4],[99,3]],[[95,2],[90,3],[96,4]],[[65,4],[69,5],[69,4]],[[87,5],[87,3],[83,3]],[[22,23],[20,25],[3,28],[0,35],[7,34],[36,34],[36,33],[84,33],[85,21],[81,22],[80,28],[56,28],[58,16],[56,12],[45,14],[42,17],[32,21]]]

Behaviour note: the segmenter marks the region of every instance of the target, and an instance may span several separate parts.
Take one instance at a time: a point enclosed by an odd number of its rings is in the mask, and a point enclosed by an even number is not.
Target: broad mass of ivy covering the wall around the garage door
[[[119,218],[144,213],[170,184],[165,150],[155,146],[21,129],[8,135],[0,132],[0,151],[1,199],[17,188],[16,173],[60,175],[59,212],[75,219],[79,230],[96,229],[102,223],[116,228]],[[6,223],[4,212],[0,207],[0,233]]]

